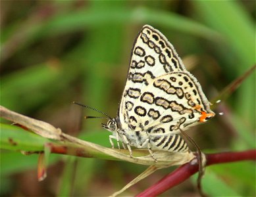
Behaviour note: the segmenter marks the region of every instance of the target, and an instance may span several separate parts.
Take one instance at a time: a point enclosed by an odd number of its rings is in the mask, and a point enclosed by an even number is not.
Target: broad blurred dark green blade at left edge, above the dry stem
[[[2,77],[1,104],[23,112],[24,109],[31,110],[47,102],[57,91],[66,88],[80,72],[79,68],[72,69],[65,65],[45,62]]]

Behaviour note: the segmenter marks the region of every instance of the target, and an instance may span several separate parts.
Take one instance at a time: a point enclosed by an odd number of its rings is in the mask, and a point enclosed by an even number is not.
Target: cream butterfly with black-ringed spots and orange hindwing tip
[[[127,147],[186,152],[188,145],[181,130],[213,118],[215,112],[197,79],[188,72],[165,35],[145,25],[138,33],[126,85],[115,118],[103,128]]]

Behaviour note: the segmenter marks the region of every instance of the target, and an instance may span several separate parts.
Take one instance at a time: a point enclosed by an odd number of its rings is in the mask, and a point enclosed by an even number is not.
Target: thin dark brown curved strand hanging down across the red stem
[[[204,174],[204,169],[203,169],[203,158],[202,158],[202,152],[201,149],[199,148],[199,146],[197,145],[197,143],[195,141],[193,141],[193,139],[188,136],[184,131],[182,131],[182,129],[180,129],[182,135],[184,135],[186,137],[186,139],[188,139],[188,141],[190,141],[190,143],[193,144],[193,146],[195,146],[195,148],[197,149],[197,154],[198,154],[198,165],[199,165],[199,171],[198,171],[198,177],[197,177],[197,189],[199,191],[199,194],[201,196],[206,196],[203,193],[203,190],[201,188],[201,179],[203,177]]]

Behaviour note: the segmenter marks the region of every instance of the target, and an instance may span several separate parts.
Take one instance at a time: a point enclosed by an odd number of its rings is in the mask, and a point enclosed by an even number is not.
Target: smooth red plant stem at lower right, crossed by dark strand
[[[222,152],[215,154],[205,154],[207,158],[207,165],[213,164],[222,164],[226,162],[239,162],[244,160],[256,160],[256,150],[245,150],[242,152]],[[166,190],[172,188],[173,186],[179,185],[188,179],[191,175],[198,171],[198,164],[192,164],[192,162],[188,164],[184,164],[178,169],[172,171],[172,173],[166,175],[150,186],[143,192],[137,195],[139,196],[157,196],[162,194]]]

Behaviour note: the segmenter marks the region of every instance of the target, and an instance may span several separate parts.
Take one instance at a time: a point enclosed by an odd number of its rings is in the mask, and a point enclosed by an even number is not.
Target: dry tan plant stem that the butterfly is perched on
[[[157,151],[154,152],[155,156],[157,156],[158,158],[158,162],[155,163],[154,160],[152,160],[150,154],[148,152],[145,152],[145,150],[133,150],[135,157],[130,157],[128,154],[128,150],[119,151],[113,148],[99,146],[98,144],[94,144],[88,141],[83,141],[76,137],[67,135],[66,133],[63,133],[61,129],[55,128],[53,127],[53,125],[50,125],[49,123],[35,120],[22,114],[18,114],[3,106],[0,106],[0,116],[2,118],[5,118],[6,120],[13,121],[14,123],[18,123],[19,125],[22,125],[30,129],[31,131],[40,135],[41,137],[54,140],[54,144],[61,143],[61,146],[64,149],[66,148],[65,154],[105,159],[106,157],[117,158],[118,160],[132,162],[135,164],[157,165],[159,167],[186,164],[195,157],[193,156],[193,153],[190,151]]]

